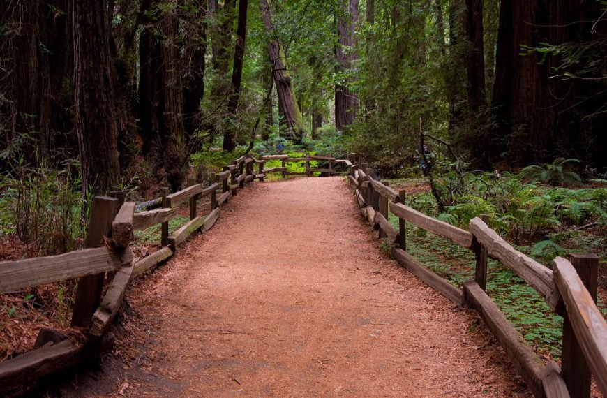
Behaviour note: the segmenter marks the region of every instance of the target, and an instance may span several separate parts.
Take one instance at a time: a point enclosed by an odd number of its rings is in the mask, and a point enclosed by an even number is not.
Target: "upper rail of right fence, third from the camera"
[[[472,234],[463,229],[452,226],[444,221],[433,219],[401,203],[390,203],[390,211],[419,228],[424,228],[431,233],[451,239],[453,242],[468,249],[472,247]]]

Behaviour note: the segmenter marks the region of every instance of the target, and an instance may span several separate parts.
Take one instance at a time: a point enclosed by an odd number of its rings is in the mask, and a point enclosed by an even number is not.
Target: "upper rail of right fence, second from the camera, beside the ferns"
[[[516,272],[541,295],[546,297],[550,309],[555,311],[560,301],[560,293],[553,281],[553,271],[529,256],[520,253],[506,242],[500,235],[489,228],[479,217],[470,221],[470,232],[486,247],[492,258],[500,260],[504,265]]]

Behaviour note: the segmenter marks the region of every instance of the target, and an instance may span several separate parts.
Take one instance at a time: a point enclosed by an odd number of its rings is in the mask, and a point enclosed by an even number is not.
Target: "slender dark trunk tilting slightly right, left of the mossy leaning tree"
[[[234,46],[234,67],[232,68],[232,90],[227,100],[227,112],[234,115],[238,109],[240,99],[240,87],[242,81],[242,68],[244,64],[244,50],[246,43],[246,15],[248,0],[239,0],[238,5],[238,27],[236,29],[236,45]],[[223,149],[232,152],[236,147],[237,136],[230,126],[223,134]]]

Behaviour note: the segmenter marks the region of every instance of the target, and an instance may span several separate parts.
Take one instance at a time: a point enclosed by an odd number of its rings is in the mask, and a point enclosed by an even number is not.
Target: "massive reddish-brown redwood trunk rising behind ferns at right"
[[[519,164],[531,163],[547,155],[556,112],[550,106],[548,67],[538,64],[537,56],[520,54],[521,45],[545,41],[549,22],[537,17],[539,1],[502,1],[500,7],[493,108],[500,136],[508,142],[502,149]]]

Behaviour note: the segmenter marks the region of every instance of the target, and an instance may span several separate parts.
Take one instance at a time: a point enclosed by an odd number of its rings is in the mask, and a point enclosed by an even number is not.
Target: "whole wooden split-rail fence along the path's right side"
[[[597,256],[572,254],[569,260],[557,257],[554,270],[550,270],[505,242],[487,226],[486,216],[472,219],[467,231],[451,226],[404,205],[405,193],[371,178],[366,163],[363,159],[357,163],[355,154],[344,162],[350,167],[348,179],[362,216],[380,231],[380,238],[394,244],[395,260],[452,302],[477,310],[536,397],[589,397],[591,374],[607,395],[607,323],[596,305]],[[398,230],[387,221],[389,212],[398,217]],[[460,290],[410,256],[406,251],[407,223],[473,251],[477,259],[474,280],[465,282]],[[562,367],[555,362],[544,366],[487,295],[488,256],[529,283],[552,311],[564,317]]]

